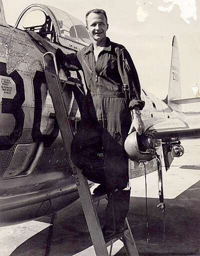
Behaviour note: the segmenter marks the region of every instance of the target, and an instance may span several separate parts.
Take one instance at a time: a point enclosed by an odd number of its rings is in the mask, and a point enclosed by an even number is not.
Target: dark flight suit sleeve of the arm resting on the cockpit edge
[[[71,53],[71,54],[64,54],[59,48],[57,49],[55,53],[55,58],[57,62],[57,67],[60,66],[65,70],[82,70],[82,67],[78,61],[77,54]]]

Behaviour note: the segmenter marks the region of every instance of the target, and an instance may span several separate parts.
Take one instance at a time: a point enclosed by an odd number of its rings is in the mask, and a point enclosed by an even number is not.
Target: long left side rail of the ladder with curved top
[[[53,56],[53,59],[55,59],[53,53],[47,52],[45,53],[45,56],[47,56],[48,54]],[[44,60],[45,56],[43,57],[43,64],[48,90],[52,99],[55,115],[60,128],[60,133],[65,144],[66,151],[68,153],[68,159],[71,165],[71,169],[73,171],[94,250],[97,256],[108,256],[106,244],[102,235],[100,223],[93,204],[87,179],[81,174],[81,170],[79,170],[70,159],[70,142],[72,141],[73,134],[70,129],[71,126],[68,118],[68,113],[66,111],[66,105],[62,99],[61,84],[56,73],[57,69],[55,69],[55,74],[52,74],[52,70],[48,71]],[[56,66],[56,62],[54,62],[54,65]],[[54,82],[49,83],[49,78]],[[58,86],[54,86],[54,83],[56,83]]]

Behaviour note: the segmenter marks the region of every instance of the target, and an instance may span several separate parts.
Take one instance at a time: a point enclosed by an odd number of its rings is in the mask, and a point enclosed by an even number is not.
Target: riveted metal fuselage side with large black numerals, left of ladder
[[[1,27],[0,225],[50,214],[78,197],[46,86],[43,52],[27,33]],[[66,98],[75,113],[71,90]]]

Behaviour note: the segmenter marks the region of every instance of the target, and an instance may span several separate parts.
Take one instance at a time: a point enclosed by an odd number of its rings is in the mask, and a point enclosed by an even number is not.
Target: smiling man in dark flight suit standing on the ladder
[[[46,50],[55,53],[57,65],[82,70],[87,87],[87,111],[71,146],[71,159],[91,181],[100,183],[94,191],[107,193],[104,237],[122,232],[129,208],[128,158],[124,141],[129,133],[144,132],[140,110],[140,84],[127,50],[106,37],[107,17],[103,10],[86,14],[91,44],[76,54],[56,51],[37,35],[29,33]],[[132,122],[131,122],[132,112]],[[103,157],[99,157],[100,149]]]

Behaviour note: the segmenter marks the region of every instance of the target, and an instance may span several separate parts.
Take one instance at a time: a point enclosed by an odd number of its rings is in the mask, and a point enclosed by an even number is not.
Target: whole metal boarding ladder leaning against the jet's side
[[[47,55],[50,55],[46,57]],[[46,58],[45,58],[46,57]],[[46,60],[45,60],[46,59]],[[52,68],[52,59],[53,65]],[[80,201],[82,204],[82,209],[86,219],[87,227],[90,233],[91,241],[96,253],[96,256],[108,256],[111,255],[112,244],[117,239],[120,239],[125,247],[126,254],[130,256],[138,256],[138,252],[134,243],[134,238],[132,236],[130,226],[126,218],[127,229],[124,231],[124,234],[121,237],[116,237],[109,242],[105,243],[96,209],[93,203],[93,199],[89,190],[89,185],[87,179],[82,175],[81,170],[78,169],[70,159],[70,144],[73,139],[73,132],[71,129],[70,120],[67,113],[67,108],[65,100],[63,98],[63,89],[58,77],[58,70],[55,55],[51,52],[46,52],[42,58],[44,65],[45,78],[47,82],[47,87],[49,94],[52,99],[53,107],[55,110],[55,116],[59,125],[60,133],[62,140],[65,144],[66,151],[68,154],[69,162],[73,171],[75,178],[77,190],[79,193]],[[48,66],[48,63],[50,66]],[[66,81],[66,86],[74,85],[70,81]],[[110,246],[110,251],[108,254],[107,246]]]

